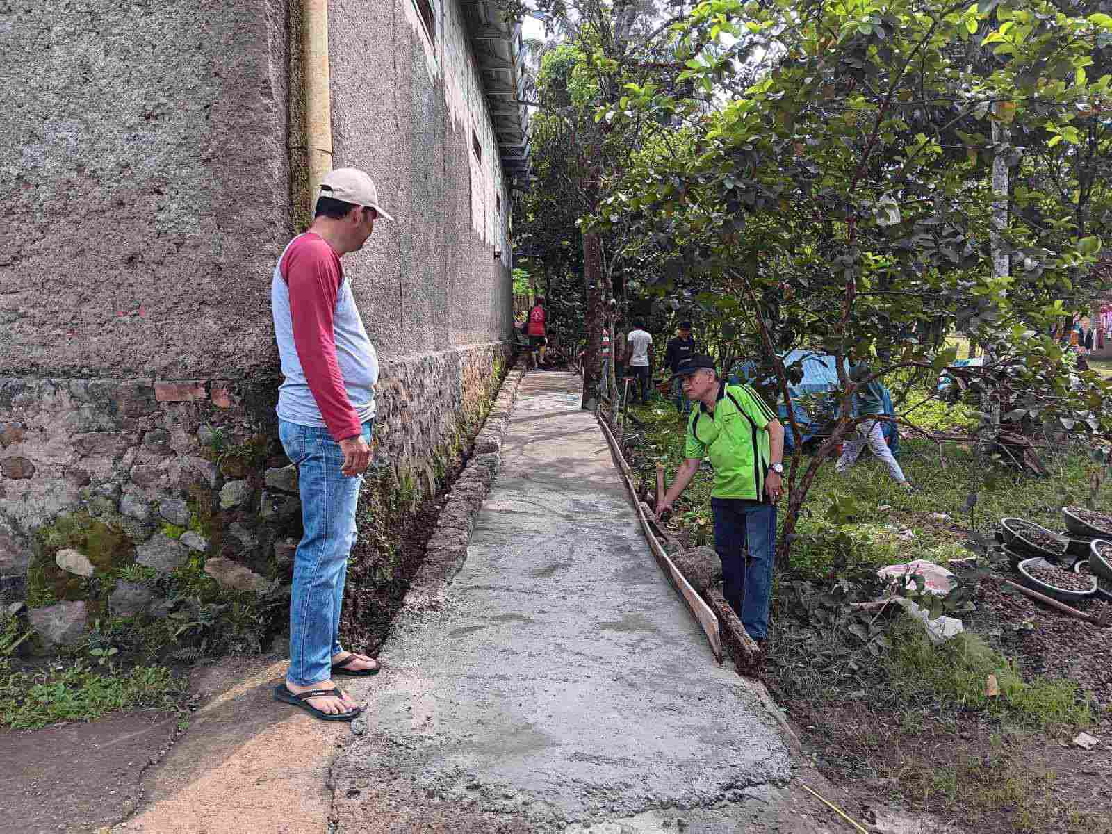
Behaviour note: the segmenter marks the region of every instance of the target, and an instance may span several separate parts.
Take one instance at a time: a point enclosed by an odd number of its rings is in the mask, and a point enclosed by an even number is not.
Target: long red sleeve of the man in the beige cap
[[[281,271],[289,288],[294,347],[317,408],[334,440],[355,437],[363,424],[344,387],[332,328],[344,280],[340,259],[322,239],[307,235],[290,247]]]

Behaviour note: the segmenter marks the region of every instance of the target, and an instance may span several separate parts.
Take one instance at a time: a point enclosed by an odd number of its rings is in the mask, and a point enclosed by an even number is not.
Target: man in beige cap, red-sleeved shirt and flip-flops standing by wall
[[[294,556],[289,671],[275,697],[325,721],[360,708],[332,675],[374,675],[378,662],[339,644],[340,606],[363,473],[371,456],[378,356],[340,257],[363,248],[383,210],[370,177],[337,168],[320,183],[312,225],[275,267],[270,305],[285,380],[278,434],[298,468],[305,535]]]

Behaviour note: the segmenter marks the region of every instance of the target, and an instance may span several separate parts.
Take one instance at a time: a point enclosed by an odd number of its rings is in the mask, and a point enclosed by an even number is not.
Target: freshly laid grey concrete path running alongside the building
[[[335,830],[823,830],[787,822],[777,723],[661,574],[578,385],[526,377],[463,569],[351,686]]]

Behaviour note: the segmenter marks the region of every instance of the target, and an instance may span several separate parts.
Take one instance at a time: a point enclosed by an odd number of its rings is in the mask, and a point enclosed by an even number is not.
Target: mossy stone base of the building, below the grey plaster
[[[435,492],[508,356],[384,363],[378,456],[398,481]],[[277,384],[0,378],[0,602],[73,645],[93,617],[169,614],[167,578],[211,597],[288,582],[301,519]]]

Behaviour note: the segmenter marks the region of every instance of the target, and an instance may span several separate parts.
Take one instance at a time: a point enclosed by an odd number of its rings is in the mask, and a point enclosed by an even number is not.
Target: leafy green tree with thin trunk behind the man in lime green
[[[971,373],[1015,419],[1080,414],[1094,430],[1112,428],[1106,384],[1071,378],[1041,332],[1069,312],[1051,299],[1070,296],[1100,238],[1063,224],[1035,235],[1006,212],[994,226],[981,163],[982,152],[1022,159],[1001,131],[985,138],[993,123],[1037,122],[1062,136],[1055,147],[1081,142],[1076,115],[1110,100],[1110,77],[1084,71],[1110,24],[1032,0],[709,0],[674,29],[679,80],[703,98],[632,81],[602,115],[692,133],[681,153],[646,142],[594,226],[636,218],[644,235],[671,240],[668,284],[701,277],[728,324],[758,339],[788,406],[800,370],[784,366],[783,350],[835,357],[838,416],[810,459],[790,419],[784,558],[818,467],[860,421],[854,391],[896,371],[941,371],[954,354],[937,337],[957,320],[990,347]],[[962,57],[982,48],[991,54],[973,71]],[[754,61],[765,64],[756,80],[726,96]],[[993,269],[994,235],[1005,274]],[[850,358],[872,360],[872,373],[851,378]]]

